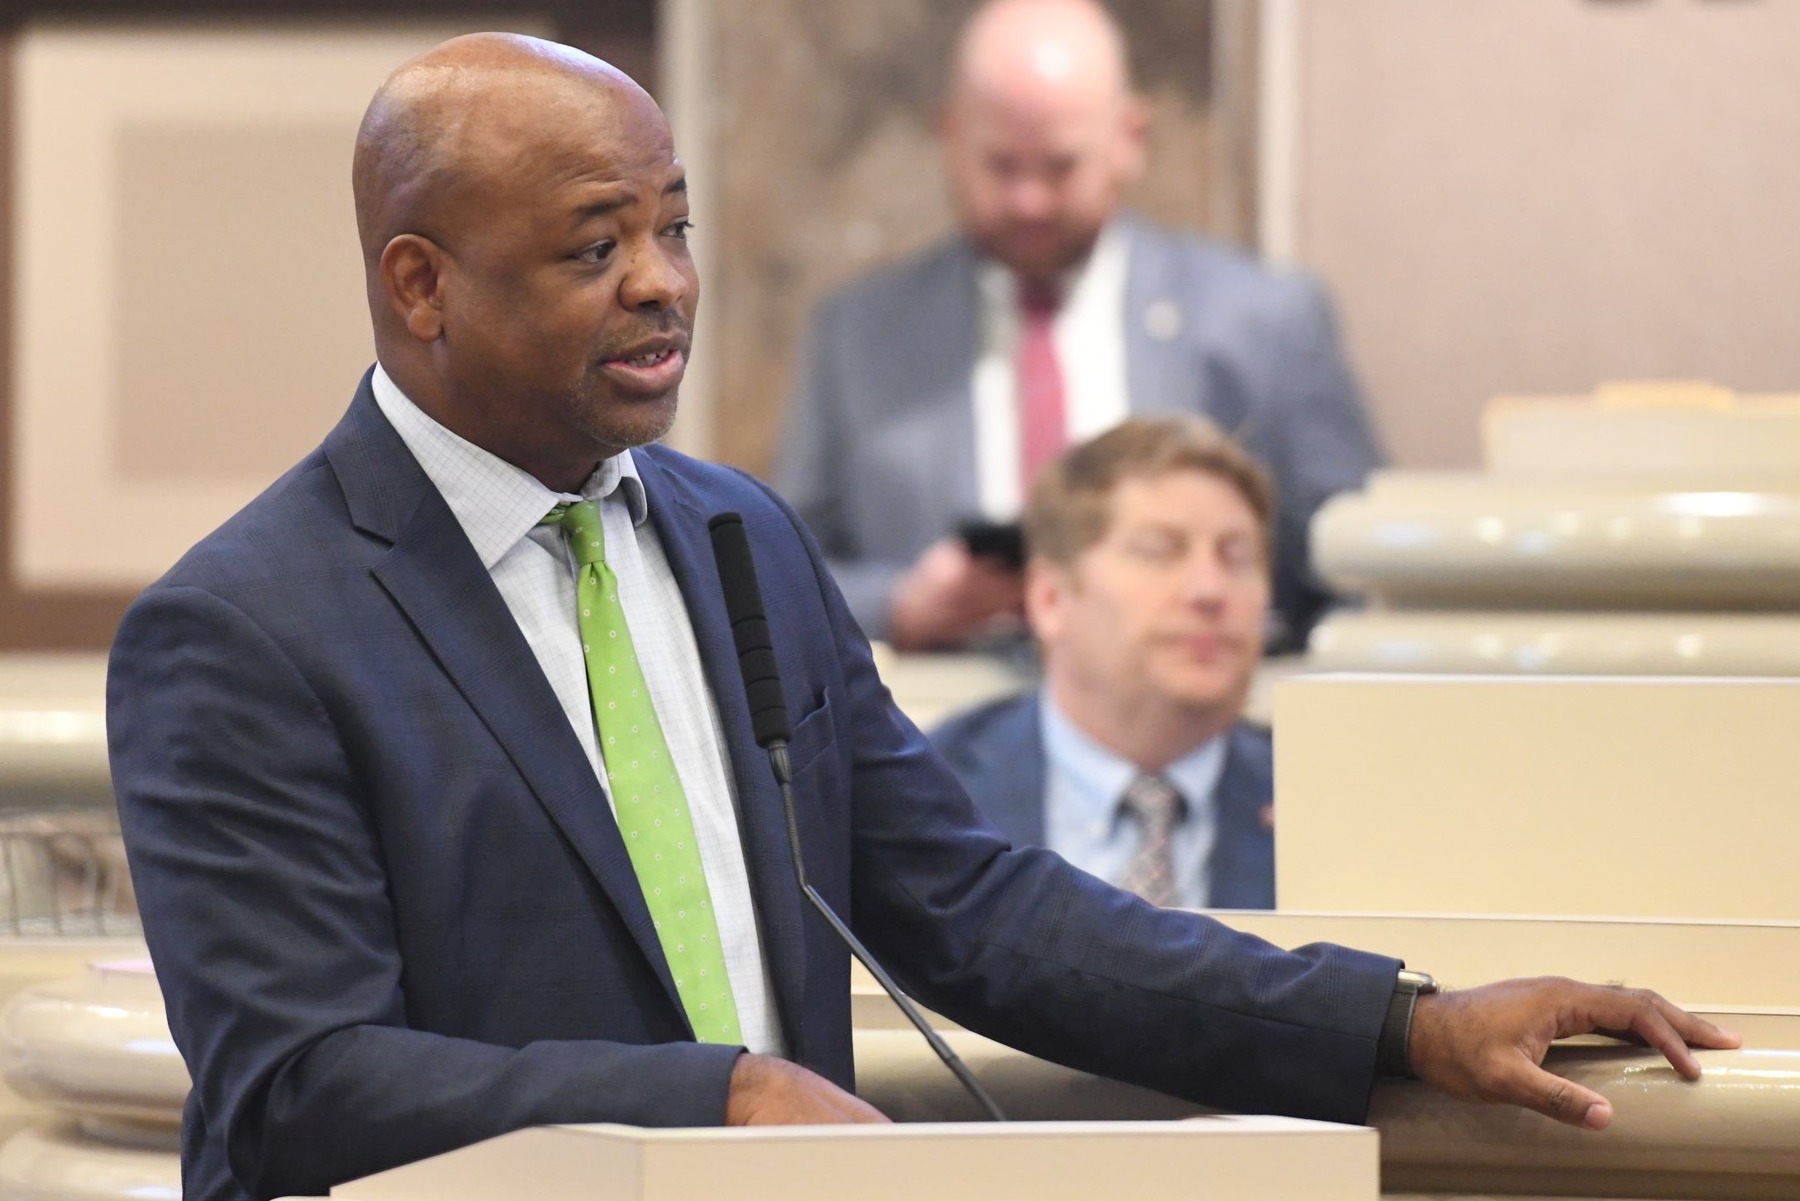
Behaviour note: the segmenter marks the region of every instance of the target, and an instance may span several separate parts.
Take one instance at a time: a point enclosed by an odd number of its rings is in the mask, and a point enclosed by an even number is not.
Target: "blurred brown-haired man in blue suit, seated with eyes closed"
[[[1201,418],[1130,420],[1039,475],[1024,598],[1044,686],[932,733],[1013,844],[1161,906],[1274,908],[1273,747],[1242,720],[1271,508]]]

